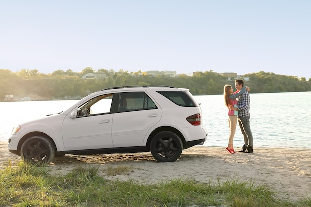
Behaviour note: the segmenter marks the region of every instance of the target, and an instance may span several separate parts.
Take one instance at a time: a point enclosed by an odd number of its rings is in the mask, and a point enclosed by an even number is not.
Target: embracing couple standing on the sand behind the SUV
[[[229,142],[226,150],[230,154],[235,154],[233,149],[233,137],[236,130],[236,124],[241,128],[244,136],[244,145],[240,152],[253,153],[253,135],[250,130],[249,123],[249,88],[244,87],[243,80],[235,80],[236,92],[233,93],[231,85],[224,86],[225,105],[228,108],[228,123],[229,123]]]

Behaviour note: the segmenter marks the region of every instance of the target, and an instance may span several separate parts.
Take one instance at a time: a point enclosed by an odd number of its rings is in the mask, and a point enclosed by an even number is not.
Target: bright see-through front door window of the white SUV
[[[97,96],[78,108],[77,117],[110,113],[113,94]]]

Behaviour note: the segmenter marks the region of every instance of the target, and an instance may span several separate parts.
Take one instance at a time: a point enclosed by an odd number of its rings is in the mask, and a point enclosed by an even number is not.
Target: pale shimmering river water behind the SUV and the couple
[[[227,147],[229,127],[223,95],[195,96],[201,104],[205,146]],[[64,111],[77,100],[0,102],[0,141],[24,121]],[[250,126],[255,147],[311,149],[311,92],[250,93]],[[237,126],[233,146],[243,145]]]

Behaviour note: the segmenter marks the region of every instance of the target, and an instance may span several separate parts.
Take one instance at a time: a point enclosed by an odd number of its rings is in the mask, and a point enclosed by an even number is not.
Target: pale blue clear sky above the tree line
[[[0,0],[0,69],[311,78],[311,0]]]

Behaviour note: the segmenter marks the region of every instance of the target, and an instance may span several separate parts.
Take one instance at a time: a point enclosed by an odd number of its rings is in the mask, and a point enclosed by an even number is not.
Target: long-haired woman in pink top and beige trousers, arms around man
[[[230,154],[236,153],[233,149],[233,137],[236,130],[237,115],[238,115],[238,111],[231,110],[231,107],[237,107],[236,98],[242,95],[246,90],[249,91],[249,88],[247,86],[243,87],[240,91],[236,91],[233,93],[233,88],[231,87],[231,85],[226,84],[224,86],[224,100],[225,106],[228,108],[228,124],[229,124],[229,141],[226,150]]]

